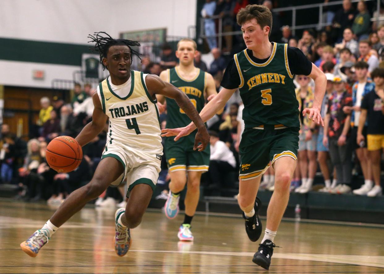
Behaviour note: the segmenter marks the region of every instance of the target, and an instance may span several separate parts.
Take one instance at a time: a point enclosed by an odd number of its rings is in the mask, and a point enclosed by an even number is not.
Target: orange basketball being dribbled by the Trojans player
[[[83,150],[70,136],[59,136],[50,141],[45,158],[49,166],[59,173],[76,169],[83,159]]]

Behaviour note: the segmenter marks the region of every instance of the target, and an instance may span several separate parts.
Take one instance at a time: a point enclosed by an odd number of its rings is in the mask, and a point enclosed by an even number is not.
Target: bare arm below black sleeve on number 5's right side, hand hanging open
[[[321,71],[317,66],[312,63],[311,74],[308,75],[314,80],[314,100],[312,108],[305,108],[303,110],[303,115],[308,114],[308,117],[312,121],[316,121],[319,125],[324,126],[324,121],[320,115],[321,103],[323,102],[325,87],[327,85],[327,78],[323,71]]]

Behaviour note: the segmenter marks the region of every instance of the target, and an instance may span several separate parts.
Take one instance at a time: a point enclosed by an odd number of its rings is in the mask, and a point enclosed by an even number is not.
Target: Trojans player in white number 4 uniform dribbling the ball
[[[114,242],[119,256],[127,253],[131,244],[129,229],[141,223],[160,171],[162,146],[156,94],[174,99],[199,128],[194,149],[202,151],[209,142],[205,125],[184,92],[156,75],[131,71],[132,53],[137,55],[131,46],[139,46],[138,42],[113,39],[104,32],[89,38],[96,43],[93,50],[100,53],[100,62],[110,75],[93,95],[92,121],[76,140],[81,146],[89,143],[103,130],[109,118],[106,147],[92,180],[73,191],[43,228],[20,244],[31,257],[36,257],[53,233],[86,203],[124,179],[129,186],[129,199],[126,208],[115,213]]]

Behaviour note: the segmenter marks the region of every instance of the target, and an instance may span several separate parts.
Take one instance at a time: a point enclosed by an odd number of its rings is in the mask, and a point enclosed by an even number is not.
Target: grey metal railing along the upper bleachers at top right
[[[351,0],[352,3],[359,2],[360,0]],[[377,10],[380,10],[380,0],[366,0],[368,1],[376,1],[377,2]],[[323,11],[324,7],[329,6],[335,6],[335,5],[342,5],[343,1],[335,1],[335,2],[328,2],[328,3],[318,3],[318,4],[309,4],[309,5],[301,5],[296,7],[285,7],[285,8],[274,8],[272,12],[286,12],[291,11],[292,12],[292,23],[290,25],[290,29],[292,31],[292,34],[296,34],[296,30],[302,30],[306,28],[323,28],[329,25],[332,25],[332,23],[324,23],[323,22]],[[296,11],[297,10],[303,10],[308,8],[319,8],[319,22],[317,24],[308,24],[308,25],[296,25]],[[371,21],[379,21],[380,20],[379,12],[377,12],[376,18],[372,18]],[[218,19],[218,31],[215,35],[205,35],[205,28],[204,23],[205,20],[212,20],[212,19]],[[242,34],[241,31],[236,32],[223,32],[223,18],[220,17],[220,15],[215,15],[209,18],[200,18],[200,38],[211,38],[211,37],[223,37],[227,35],[238,35]],[[218,39],[218,48],[222,48],[222,39]]]

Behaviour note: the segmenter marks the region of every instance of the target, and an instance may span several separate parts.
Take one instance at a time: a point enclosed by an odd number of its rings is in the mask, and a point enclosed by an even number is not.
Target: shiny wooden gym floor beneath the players
[[[252,262],[258,243],[248,240],[240,216],[196,215],[190,244],[177,239],[183,214],[168,220],[153,210],[132,230],[131,250],[118,257],[115,208],[84,208],[31,258],[19,244],[53,210],[0,199],[0,273],[384,273],[384,226],[285,220],[275,239],[282,248],[265,271]]]

